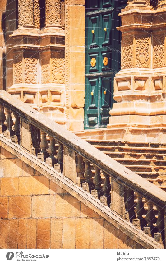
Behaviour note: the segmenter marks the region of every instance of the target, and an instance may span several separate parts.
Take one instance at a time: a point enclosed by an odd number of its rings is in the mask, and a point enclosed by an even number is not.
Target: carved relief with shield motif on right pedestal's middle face
[[[149,37],[136,36],[136,67],[149,67]]]

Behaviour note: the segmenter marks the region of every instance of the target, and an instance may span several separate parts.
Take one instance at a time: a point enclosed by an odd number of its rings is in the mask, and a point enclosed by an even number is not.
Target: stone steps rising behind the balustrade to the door
[[[110,140],[86,140],[126,168],[166,191],[166,145]]]

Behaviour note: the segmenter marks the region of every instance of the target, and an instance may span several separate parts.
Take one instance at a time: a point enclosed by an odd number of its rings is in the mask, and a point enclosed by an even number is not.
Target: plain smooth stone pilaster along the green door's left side
[[[84,129],[85,1],[65,0],[65,113],[67,129]]]

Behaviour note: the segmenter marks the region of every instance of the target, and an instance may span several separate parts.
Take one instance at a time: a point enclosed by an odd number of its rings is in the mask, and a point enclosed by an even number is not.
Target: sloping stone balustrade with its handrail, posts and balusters
[[[4,90],[0,90],[0,133],[164,243],[166,192]]]

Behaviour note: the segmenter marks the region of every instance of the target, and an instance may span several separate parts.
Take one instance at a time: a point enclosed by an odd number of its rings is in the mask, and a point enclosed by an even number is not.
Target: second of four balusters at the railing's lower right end
[[[132,220],[133,225],[135,225],[138,229],[142,229],[145,225],[145,221],[142,217],[144,213],[144,203],[142,201],[142,195],[138,192],[136,193],[137,203],[136,203],[136,214],[137,217]]]

